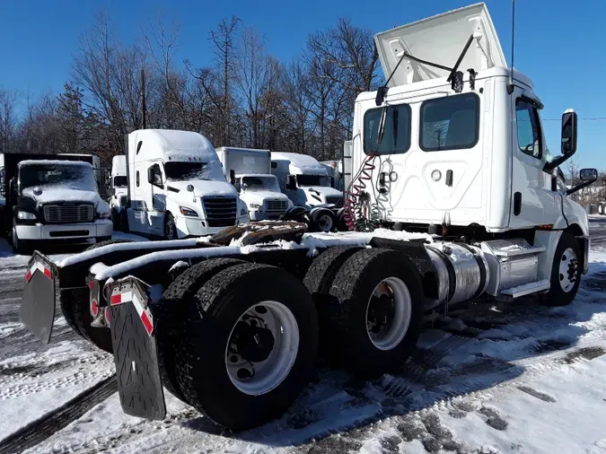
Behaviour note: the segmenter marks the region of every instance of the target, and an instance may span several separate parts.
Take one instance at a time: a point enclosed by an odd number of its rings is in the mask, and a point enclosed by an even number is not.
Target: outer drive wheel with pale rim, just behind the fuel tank
[[[423,321],[423,286],[416,267],[391,249],[363,249],[338,270],[333,297],[318,308],[322,350],[356,375],[399,369]]]

